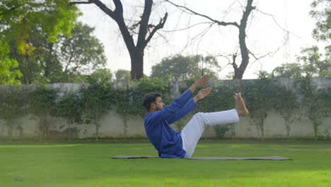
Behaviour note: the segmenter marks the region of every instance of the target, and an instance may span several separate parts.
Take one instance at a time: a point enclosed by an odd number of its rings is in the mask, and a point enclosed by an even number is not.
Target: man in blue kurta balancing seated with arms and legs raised
[[[248,110],[239,93],[233,96],[236,101],[234,109],[216,113],[197,113],[181,132],[175,132],[170,128],[170,124],[190,113],[197,107],[197,101],[211,93],[211,88],[202,89],[192,97],[194,91],[206,85],[208,81],[209,76],[197,79],[189,89],[168,106],[163,103],[161,94],[150,93],[145,96],[143,105],[147,111],[144,118],[146,135],[158,150],[158,157],[191,158],[197,142],[208,125],[236,123],[239,121],[238,116],[248,115]]]

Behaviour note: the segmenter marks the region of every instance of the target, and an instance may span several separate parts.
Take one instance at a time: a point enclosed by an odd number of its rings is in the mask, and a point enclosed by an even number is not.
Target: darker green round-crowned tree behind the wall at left
[[[91,70],[104,67],[106,58],[100,44],[90,28],[76,23],[71,36],[60,35],[56,42],[47,41],[47,33],[33,26],[35,37],[30,40],[35,50],[32,55],[16,52],[16,40],[11,42],[11,57],[20,62],[23,84],[42,82],[73,82],[77,75],[88,74]]]

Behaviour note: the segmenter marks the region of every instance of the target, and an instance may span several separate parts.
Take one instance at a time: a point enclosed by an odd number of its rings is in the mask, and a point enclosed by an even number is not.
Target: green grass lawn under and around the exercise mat
[[[199,142],[194,157],[292,161],[112,159],[156,155],[139,142],[0,143],[0,186],[331,186],[330,142]]]

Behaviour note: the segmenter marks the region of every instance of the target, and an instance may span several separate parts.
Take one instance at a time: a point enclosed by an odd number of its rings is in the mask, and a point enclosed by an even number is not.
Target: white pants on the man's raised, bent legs
[[[207,125],[225,125],[239,121],[236,109],[216,113],[196,113],[182,129],[182,149],[185,150],[185,158],[191,158],[197,142],[199,141]]]

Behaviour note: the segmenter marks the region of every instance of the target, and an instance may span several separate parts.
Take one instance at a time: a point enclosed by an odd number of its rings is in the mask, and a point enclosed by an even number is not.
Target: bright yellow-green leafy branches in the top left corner
[[[66,1],[4,0],[0,3],[0,63],[3,64],[8,52],[6,45],[16,40],[15,50],[20,55],[32,55],[35,46],[30,40],[35,34],[47,33],[47,41],[55,42],[61,33],[70,35],[74,28],[78,8],[69,7]],[[38,32],[31,32],[38,25]],[[10,58],[12,59],[12,58]],[[6,60],[8,64],[8,60]],[[13,69],[16,71],[15,69]],[[13,73],[17,76],[17,72]]]

